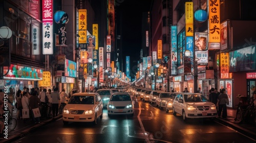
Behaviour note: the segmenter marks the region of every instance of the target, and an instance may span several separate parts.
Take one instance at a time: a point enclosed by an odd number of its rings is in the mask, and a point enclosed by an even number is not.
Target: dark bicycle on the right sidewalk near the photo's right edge
[[[238,108],[237,108],[237,114],[236,118],[234,118],[235,123],[241,124],[244,120],[244,114],[246,112],[247,107],[249,106],[249,101],[247,100],[247,97],[241,96],[241,94],[238,94],[237,98],[239,98]]]

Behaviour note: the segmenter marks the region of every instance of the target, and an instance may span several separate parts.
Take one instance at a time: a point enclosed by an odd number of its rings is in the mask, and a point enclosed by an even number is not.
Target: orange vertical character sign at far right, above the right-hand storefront
[[[229,78],[229,53],[221,53],[221,79]]]

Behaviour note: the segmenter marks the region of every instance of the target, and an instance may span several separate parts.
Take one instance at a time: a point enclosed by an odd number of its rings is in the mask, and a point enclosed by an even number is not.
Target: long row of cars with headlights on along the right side
[[[217,116],[216,105],[200,93],[164,92],[142,87],[132,87],[131,92],[144,102],[156,104],[160,109],[165,108],[166,113],[172,110],[175,116],[181,114],[184,121],[187,118],[214,119]]]

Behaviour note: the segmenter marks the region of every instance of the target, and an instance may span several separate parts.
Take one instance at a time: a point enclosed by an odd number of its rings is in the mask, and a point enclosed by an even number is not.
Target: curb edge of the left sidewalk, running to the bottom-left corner
[[[28,128],[28,129],[20,131],[20,133],[17,133],[15,135],[12,135],[12,136],[8,137],[8,139],[4,138],[3,140],[0,140],[0,142],[13,142],[14,140],[17,140],[17,139],[19,139],[21,137],[24,137],[26,134],[30,133],[31,131],[33,131],[33,130],[41,127],[41,126],[47,125],[47,124],[49,124],[51,122],[54,122],[54,121],[58,120],[59,118],[62,118],[62,114],[58,115],[58,116],[55,116],[54,118],[50,118],[50,119],[48,119],[46,121],[43,121],[43,122],[41,122],[39,124],[35,124],[34,126]]]

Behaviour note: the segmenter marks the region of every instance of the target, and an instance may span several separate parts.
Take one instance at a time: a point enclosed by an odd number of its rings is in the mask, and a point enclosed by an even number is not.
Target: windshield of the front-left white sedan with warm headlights
[[[94,104],[93,96],[72,96],[68,104]]]

